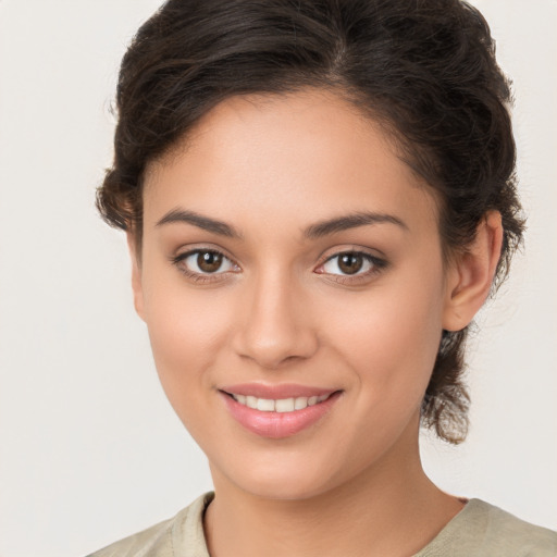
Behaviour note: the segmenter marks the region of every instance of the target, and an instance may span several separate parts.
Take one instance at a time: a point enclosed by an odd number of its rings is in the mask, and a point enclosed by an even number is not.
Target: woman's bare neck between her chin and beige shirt
[[[215,498],[205,518],[211,557],[408,556],[462,508],[426,478],[418,443],[304,499],[258,497],[212,473]]]

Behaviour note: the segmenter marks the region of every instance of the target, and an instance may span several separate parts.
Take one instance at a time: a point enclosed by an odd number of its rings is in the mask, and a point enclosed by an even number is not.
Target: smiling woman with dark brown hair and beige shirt
[[[95,555],[556,554],[418,447],[465,438],[467,331],[521,242],[509,99],[458,1],[171,0],[139,29],[98,205],[214,494]]]

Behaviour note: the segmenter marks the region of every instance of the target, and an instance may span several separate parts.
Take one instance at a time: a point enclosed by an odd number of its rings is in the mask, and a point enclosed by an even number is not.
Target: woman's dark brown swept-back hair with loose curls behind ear
[[[495,289],[523,228],[510,91],[487,23],[458,0],[169,0],[122,61],[102,216],[140,243],[148,162],[226,98],[302,87],[343,95],[391,132],[437,193],[446,253],[466,250],[485,213],[500,212]],[[422,424],[451,443],[468,426],[467,334],[443,332],[422,404]]]

